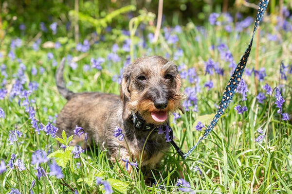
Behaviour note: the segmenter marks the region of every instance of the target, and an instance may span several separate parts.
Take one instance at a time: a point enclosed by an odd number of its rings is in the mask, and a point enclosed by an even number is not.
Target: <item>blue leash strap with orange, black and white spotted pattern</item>
[[[214,128],[214,126],[218,122],[219,118],[221,117],[221,115],[224,113],[224,111],[226,110],[226,108],[230,104],[230,102],[234,96],[234,93],[237,89],[237,86],[240,82],[242,73],[245,69],[247,58],[250,54],[250,51],[251,51],[251,48],[253,45],[253,40],[254,40],[254,35],[256,33],[256,29],[257,29],[261,19],[263,18],[263,15],[266,11],[268,3],[269,3],[269,0],[260,0],[260,2],[259,2],[259,7],[258,7],[257,16],[256,16],[255,27],[254,27],[252,39],[251,39],[245,53],[240,58],[240,61],[237,65],[237,68],[233,72],[233,74],[232,74],[232,76],[231,76],[231,78],[230,78],[230,80],[225,88],[224,94],[221,98],[221,101],[220,101],[217,113],[214,116],[214,119],[208,125],[207,129],[205,130],[203,136],[200,137],[199,141],[187,153],[185,153],[182,158],[188,157],[195,150],[195,148],[198,146],[198,144],[207,137],[207,135],[212,131],[212,129]]]

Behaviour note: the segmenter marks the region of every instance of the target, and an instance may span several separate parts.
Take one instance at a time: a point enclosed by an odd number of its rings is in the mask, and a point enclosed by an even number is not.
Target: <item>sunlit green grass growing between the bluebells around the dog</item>
[[[203,130],[201,132],[195,130],[198,121],[205,125],[209,124],[216,112],[215,105],[219,104],[223,88],[229,80],[230,68],[228,68],[228,64],[220,59],[216,49],[210,51],[209,47],[211,45],[217,47],[221,42],[226,43],[237,63],[248,45],[252,30],[249,28],[242,33],[234,31],[228,34],[221,27],[215,29],[214,26],[206,24],[206,32],[201,33],[190,26],[185,27],[183,33],[179,34],[179,42],[175,45],[167,44],[163,35],[157,44],[151,44],[147,41],[146,48],[138,46],[137,40],[133,42],[135,45],[133,54],[136,57],[145,54],[164,56],[168,52],[170,59],[172,59],[173,53],[178,48],[182,48],[183,56],[174,62],[177,65],[184,63],[188,68],[196,68],[196,73],[200,78],[198,84],[201,86],[201,92],[197,94],[198,112],[186,111],[185,114],[181,114],[182,118],[178,119],[176,124],[171,124],[174,129],[175,141],[184,152],[191,148],[203,133]],[[151,27],[147,28],[147,32],[152,32]],[[264,23],[261,26],[261,33],[258,40],[258,61],[259,67],[266,69],[265,80],[258,82],[256,87],[254,76],[243,75],[249,89],[247,101],[241,101],[241,96],[237,93],[212,133],[186,160],[182,160],[173,149],[165,153],[159,168],[153,169],[153,176],[159,186],[157,184],[147,186],[139,169],[134,169],[132,174],[128,175],[124,166],[118,163],[112,165],[106,157],[106,151],[101,151],[94,146],[81,154],[80,159],[72,159],[71,155],[68,156],[68,163],[62,167],[64,178],[57,179],[55,176],[48,175],[38,180],[35,176],[35,165],[31,164],[32,153],[37,149],[48,151],[50,146],[52,146],[52,151],[56,151],[59,149],[57,141],[51,136],[46,136],[43,131],[37,135],[32,128],[25,108],[18,105],[18,100],[21,104],[23,99],[18,96],[9,98],[7,95],[3,100],[0,100],[0,107],[5,112],[5,119],[0,118],[0,159],[3,159],[7,164],[10,155],[14,153],[24,162],[27,170],[19,171],[18,169],[9,169],[7,166],[7,171],[0,174],[0,193],[9,193],[11,188],[17,188],[23,194],[29,193],[33,180],[36,180],[36,185],[32,189],[34,193],[74,193],[72,190],[78,190],[79,193],[100,193],[103,192],[103,189],[101,186],[95,185],[96,176],[108,180],[116,193],[183,193],[176,186],[178,178],[184,178],[190,182],[191,189],[195,193],[292,193],[292,124],[280,120],[280,115],[274,106],[274,93],[272,97],[266,95],[267,98],[263,104],[259,104],[256,100],[256,93],[264,92],[262,87],[265,83],[268,83],[272,88],[280,84],[284,85],[281,91],[286,100],[283,112],[292,113],[291,74],[287,72],[287,81],[279,79],[280,62],[284,60],[285,65],[291,63],[292,51],[288,49],[289,45],[292,44],[291,32],[276,32],[273,23]],[[282,41],[280,43],[269,41],[267,33],[277,33]],[[118,55],[122,61],[112,63],[106,60],[102,64],[102,71],[96,69],[83,71],[83,65],[90,64],[91,57],[106,58],[107,54],[111,52],[110,48],[114,42],[117,42],[121,48],[124,38],[127,37],[118,37],[114,32],[105,36],[106,41],[91,45],[90,51],[76,62],[78,64],[76,70],[66,66],[65,81],[72,82],[72,85],[69,86],[71,90],[74,92],[102,91],[119,94],[119,85],[111,81],[111,78],[113,75],[119,74],[128,53],[120,49]],[[201,41],[195,41],[195,37],[200,37]],[[16,60],[12,61],[7,57],[13,38],[7,35],[0,48],[0,52],[3,54],[3,57],[0,58],[0,64],[3,63],[7,67],[8,77],[4,88],[8,91],[11,90],[16,81],[14,74],[18,72],[19,68],[19,63]],[[29,99],[35,99],[35,103],[32,103],[31,106],[36,110],[36,118],[46,125],[49,121],[48,117],[57,114],[66,103],[66,100],[57,92],[54,79],[56,67],[52,66],[52,61],[47,60],[47,53],[52,52],[58,63],[67,54],[72,56],[83,56],[83,54],[74,49],[75,43],[72,39],[61,42],[62,46],[58,50],[40,48],[37,52],[31,48],[33,42],[28,37],[23,36],[21,39],[22,46],[16,48],[15,53],[26,66],[24,87],[27,89],[28,83],[33,81],[39,84],[38,89],[30,95]],[[139,38],[137,39],[139,40]],[[256,41],[255,38],[247,64],[249,69],[255,67]],[[152,51],[147,51],[148,48],[151,48]],[[204,61],[208,58],[219,62],[219,66],[225,70],[224,76],[204,75]],[[37,75],[31,74],[32,67],[37,68]],[[39,73],[40,67],[45,69],[43,74]],[[2,82],[3,79],[4,76],[1,75],[0,81]],[[212,80],[214,83],[214,88],[211,90],[203,87],[204,82],[208,80]],[[186,87],[194,86],[187,80],[183,80],[182,91]],[[270,98],[271,105],[269,105]],[[237,111],[234,110],[237,104],[247,106],[248,111],[237,114]],[[9,145],[9,131],[14,130],[15,127],[23,133],[23,136],[18,138],[18,141],[13,145]],[[258,128],[262,128],[267,134],[260,143],[255,142]],[[60,160],[64,162],[66,159]],[[77,162],[80,162],[79,168],[76,167]],[[201,175],[199,171],[195,170],[196,166],[200,168]],[[46,163],[42,163],[41,167],[44,168],[45,172],[50,172]]]

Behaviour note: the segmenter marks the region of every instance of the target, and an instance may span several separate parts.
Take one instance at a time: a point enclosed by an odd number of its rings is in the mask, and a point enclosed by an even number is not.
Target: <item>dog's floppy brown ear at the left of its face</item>
[[[120,89],[120,96],[123,101],[123,120],[127,120],[131,114],[128,105],[130,102],[130,72],[127,70],[123,73],[123,78],[121,81],[121,89]]]

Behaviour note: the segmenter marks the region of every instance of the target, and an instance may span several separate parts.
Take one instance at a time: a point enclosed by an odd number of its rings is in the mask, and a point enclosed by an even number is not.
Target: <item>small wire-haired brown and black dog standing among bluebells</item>
[[[61,136],[63,130],[73,135],[78,125],[88,133],[89,140],[107,149],[112,162],[117,159],[121,165],[125,164],[122,159],[140,161],[146,143],[140,165],[156,168],[170,144],[163,134],[149,133],[168,125],[168,117],[174,111],[183,111],[177,66],[161,56],[136,59],[125,68],[118,96],[101,92],[73,93],[65,86],[64,62],[63,59],[55,74],[58,91],[68,100],[56,119],[57,135]],[[113,135],[116,127],[122,129],[121,141]],[[84,136],[74,136],[72,144],[79,141],[84,141]]]

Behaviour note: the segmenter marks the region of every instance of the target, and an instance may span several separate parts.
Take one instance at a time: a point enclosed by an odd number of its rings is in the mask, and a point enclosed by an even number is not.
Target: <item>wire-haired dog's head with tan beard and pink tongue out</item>
[[[138,58],[121,82],[123,119],[139,112],[147,123],[162,124],[181,108],[181,77],[177,67],[161,56]]]

